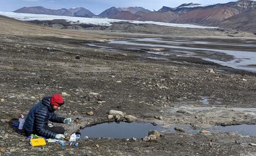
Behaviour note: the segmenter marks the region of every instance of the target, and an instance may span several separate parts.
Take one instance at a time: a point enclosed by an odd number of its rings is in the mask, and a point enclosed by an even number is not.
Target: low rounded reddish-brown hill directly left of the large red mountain
[[[140,20],[142,21],[155,21],[155,22],[172,22],[173,20],[175,20],[177,18],[177,14],[173,13],[173,12],[150,12],[146,15],[143,15]]]

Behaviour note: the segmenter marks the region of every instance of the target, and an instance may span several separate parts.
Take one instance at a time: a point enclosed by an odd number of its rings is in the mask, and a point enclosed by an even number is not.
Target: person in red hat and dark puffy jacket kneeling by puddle
[[[61,126],[49,127],[48,122],[70,123],[71,118],[58,117],[54,111],[61,109],[64,100],[61,94],[53,94],[53,96],[43,97],[41,102],[30,109],[25,120],[23,129],[26,136],[37,134],[45,138],[61,139],[65,138],[65,129]]]

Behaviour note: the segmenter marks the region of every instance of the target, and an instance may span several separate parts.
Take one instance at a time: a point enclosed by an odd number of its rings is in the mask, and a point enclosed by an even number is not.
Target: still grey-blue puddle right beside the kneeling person
[[[152,125],[151,123],[127,123],[111,122],[100,123],[98,125],[88,126],[80,129],[81,137],[85,138],[144,138],[148,136],[148,131],[162,131],[161,125]]]

